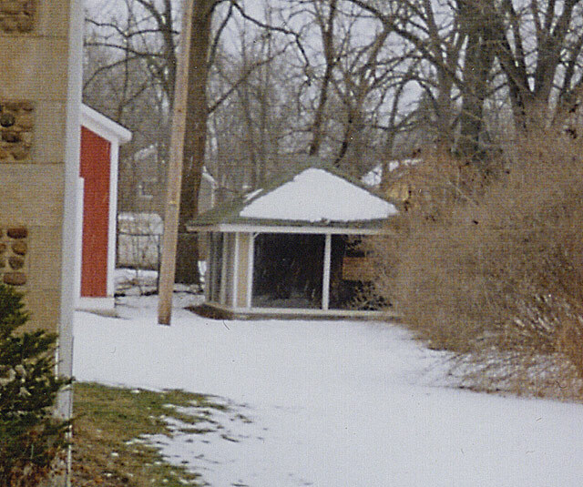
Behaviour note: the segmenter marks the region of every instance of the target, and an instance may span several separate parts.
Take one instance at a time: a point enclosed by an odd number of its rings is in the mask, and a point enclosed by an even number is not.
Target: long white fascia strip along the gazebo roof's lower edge
[[[193,225],[189,231],[200,232],[243,232],[243,233],[313,233],[331,235],[387,235],[393,231],[387,228],[348,228],[348,227],[287,227],[281,225],[243,225],[220,223],[219,225]]]

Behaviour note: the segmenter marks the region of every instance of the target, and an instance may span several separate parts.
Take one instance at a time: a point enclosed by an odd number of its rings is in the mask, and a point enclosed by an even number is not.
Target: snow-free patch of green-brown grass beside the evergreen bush
[[[187,414],[180,411],[188,408]],[[193,410],[195,408],[195,410]],[[200,408],[200,414],[196,409]],[[139,441],[148,434],[170,434],[164,417],[195,428],[209,420],[209,410],[226,406],[184,391],[144,391],[75,384],[73,472],[76,487],[204,485],[199,475],[170,465],[152,445]]]

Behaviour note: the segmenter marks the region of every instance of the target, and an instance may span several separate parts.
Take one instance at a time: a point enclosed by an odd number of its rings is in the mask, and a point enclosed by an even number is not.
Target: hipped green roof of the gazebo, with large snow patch
[[[279,185],[251,191],[190,222],[190,229],[225,225],[279,227],[378,227],[394,204],[335,168],[305,167]],[[230,231],[230,230],[227,230]]]

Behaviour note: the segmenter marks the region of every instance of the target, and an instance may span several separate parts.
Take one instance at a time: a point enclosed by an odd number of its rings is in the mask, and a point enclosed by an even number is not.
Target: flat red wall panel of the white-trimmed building
[[[111,144],[81,127],[81,178],[83,197],[83,245],[81,296],[107,296],[107,242],[109,234],[109,177]]]

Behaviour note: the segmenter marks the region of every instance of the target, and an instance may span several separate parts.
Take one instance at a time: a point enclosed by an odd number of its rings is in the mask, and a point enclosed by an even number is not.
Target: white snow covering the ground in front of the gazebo
[[[78,312],[77,380],[219,396],[222,429],[153,438],[215,487],[579,486],[583,407],[445,387],[445,357],[378,322],[222,321],[157,298]],[[251,420],[250,421],[247,421]],[[179,425],[177,425],[179,428]]]

